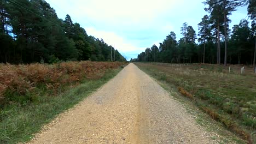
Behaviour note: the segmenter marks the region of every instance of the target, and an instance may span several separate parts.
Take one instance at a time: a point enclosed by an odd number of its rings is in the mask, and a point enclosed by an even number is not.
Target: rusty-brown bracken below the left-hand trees
[[[0,64],[0,104],[33,100],[37,88],[56,93],[68,83],[100,79],[106,70],[124,65],[121,62],[63,62],[57,64]]]

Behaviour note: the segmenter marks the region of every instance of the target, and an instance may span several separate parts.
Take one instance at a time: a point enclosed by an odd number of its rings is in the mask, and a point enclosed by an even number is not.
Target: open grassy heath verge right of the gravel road
[[[135,64],[156,80],[166,83],[164,87],[185,95],[193,105],[237,136],[248,143],[255,141],[254,75],[228,75],[157,63]]]

